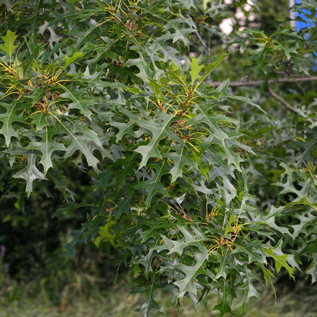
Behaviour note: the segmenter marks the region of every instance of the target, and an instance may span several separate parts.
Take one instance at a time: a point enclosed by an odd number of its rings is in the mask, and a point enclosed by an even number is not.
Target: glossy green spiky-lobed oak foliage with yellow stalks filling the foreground
[[[68,205],[56,216],[89,209],[87,221],[71,233],[66,258],[74,256],[80,242],[90,239],[98,246],[110,241],[121,252],[119,262],[140,277],[132,292],[145,294],[139,308],[144,316],[152,309],[163,311],[153,296],[158,288],[172,292],[174,304],[189,296],[195,306],[206,294],[217,293],[213,309],[223,316],[231,312],[237,289],[244,293],[244,306],[260,297],[253,281],[272,284],[273,272],[282,267],[294,277],[302,254],[314,259],[308,273],[316,278],[314,115],[302,110],[305,120],[294,124],[304,127],[308,137],[302,141],[296,135],[294,143],[295,136],[283,126],[272,130],[275,122],[256,103],[233,94],[229,80],[216,88],[205,85],[228,54],[191,61],[181,54],[195,41],[195,21],[205,25],[204,41],[210,27],[203,22],[223,7],[192,0],[2,5],[2,199],[15,198],[20,208],[32,191],[49,196],[58,190]],[[198,21],[201,14],[205,18]],[[263,38],[267,43],[274,38],[269,52],[263,49],[261,63],[255,61],[262,65],[252,69],[255,75],[272,67],[270,52],[282,50],[288,59],[295,54],[294,39],[249,33],[256,35],[260,49]],[[280,33],[299,37],[289,29]],[[240,39],[241,48],[246,40],[252,39]],[[252,61],[256,54],[250,56]],[[226,104],[236,102],[261,118],[261,124],[248,119],[243,126],[247,136],[239,132],[239,115],[229,116]],[[280,165],[276,185],[283,187],[281,197],[265,206],[257,204],[261,195],[251,193],[247,175],[260,174],[252,170],[256,155],[250,145],[262,138],[262,124],[269,141],[257,164],[281,148],[296,152],[290,155],[294,169]],[[63,176],[66,168],[78,177],[88,173],[98,193],[94,201],[74,201]],[[260,175],[267,179],[263,171]],[[301,189],[293,184],[296,177]],[[293,196],[284,204],[286,193]],[[300,215],[298,205],[306,208]],[[294,239],[298,248],[287,253],[285,246],[294,245]]]

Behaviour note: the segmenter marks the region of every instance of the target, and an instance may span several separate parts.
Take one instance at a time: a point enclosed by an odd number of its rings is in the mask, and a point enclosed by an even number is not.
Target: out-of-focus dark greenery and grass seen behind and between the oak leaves
[[[4,7],[6,1],[0,1]],[[204,24],[201,29],[208,33],[210,55],[219,55],[227,52],[227,43],[234,36],[232,32],[243,28],[258,28],[265,32],[273,32],[288,17],[288,0],[274,1],[214,1],[214,11],[206,16],[201,16],[196,24]],[[250,5],[251,4],[251,5]],[[253,5],[252,5],[253,4]],[[2,14],[3,11],[2,11]],[[219,28],[222,26],[224,29]],[[229,25],[230,34],[225,34],[225,26]],[[228,30],[228,27],[227,27]],[[196,56],[201,52],[201,42],[192,33],[189,52],[184,48],[183,58]],[[230,59],[223,61],[215,72],[212,81],[220,81],[230,77],[237,80],[248,76],[249,65],[242,66],[242,55],[237,52]],[[302,87],[290,88],[289,84],[281,84],[280,91],[286,100],[292,98],[293,105],[308,105],[315,95],[314,83],[305,83],[305,94],[301,93]],[[254,96],[260,90],[258,87],[234,88],[236,95]],[[295,96],[295,98],[294,98]],[[266,105],[278,111],[280,104],[268,93],[259,91],[256,102],[266,109]],[[231,105],[234,108],[234,105]],[[241,104],[239,104],[241,106]],[[238,107],[238,104],[236,105]],[[242,112],[243,113],[243,112]],[[243,115],[243,114],[242,114]],[[248,120],[245,120],[245,119]],[[241,118],[245,123],[243,128],[255,124],[249,118]],[[249,125],[249,126],[248,126]],[[268,127],[268,130],[270,127]],[[250,135],[248,136],[250,139]],[[256,135],[255,135],[256,138]],[[281,149],[280,149],[281,150]],[[275,151],[279,151],[275,148]],[[282,151],[282,150],[281,150]],[[270,155],[274,155],[270,153]],[[281,154],[279,153],[279,156]],[[60,163],[58,163],[60,164]],[[261,166],[256,166],[260,170]],[[64,169],[65,171],[66,169]],[[274,166],[267,171],[271,181],[278,181],[279,174]],[[79,172],[78,172],[79,175]],[[68,175],[54,175],[60,180],[58,190],[47,188],[47,191],[34,191],[33,195],[24,201],[10,197],[8,192],[2,192],[0,207],[0,317],[2,316],[139,316],[133,312],[142,300],[140,294],[128,294],[131,289],[133,276],[126,275],[126,268],[116,268],[116,251],[110,242],[102,242],[97,248],[94,245],[80,245],[77,249],[75,260],[64,262],[65,249],[63,246],[71,241],[70,231],[80,227],[86,220],[85,210],[77,210],[73,214],[63,213],[60,217],[52,217],[57,208],[64,206],[63,188],[76,188],[76,195],[88,203],[98,200],[98,191],[94,191],[93,179],[87,172],[81,177],[76,175],[76,165],[69,165]],[[8,175],[1,175],[1,182]],[[51,183],[50,183],[51,184]],[[63,187],[63,184],[65,185]],[[50,185],[48,185],[50,186]],[[261,178],[253,185],[253,190],[260,198],[259,204],[268,204],[268,192]],[[270,186],[272,190],[272,186]],[[276,193],[279,189],[276,187]],[[70,195],[75,195],[69,192]],[[277,196],[275,194],[270,195]],[[5,199],[3,199],[5,198]],[[305,259],[302,259],[305,261]],[[115,276],[113,272],[118,272]],[[280,272],[276,281],[277,305],[275,307],[274,293],[267,288],[261,291],[263,301],[254,300],[250,308],[240,312],[239,299],[233,305],[234,316],[293,317],[298,315],[298,304],[301,303],[301,314],[306,317],[316,316],[317,302],[315,294],[317,288],[310,285],[305,275],[297,272],[296,286],[285,272]],[[117,288],[113,283],[118,280]],[[160,302],[165,301],[163,293],[156,294]],[[211,301],[217,299],[210,296]],[[167,304],[166,304],[167,305]],[[181,316],[191,316],[190,301],[183,301],[180,307]],[[164,305],[163,305],[164,306]],[[177,316],[177,308],[171,311],[166,308],[168,316]],[[210,316],[217,316],[217,312],[210,312]],[[161,313],[153,312],[153,316]],[[204,316],[203,311],[198,311],[197,316]]]

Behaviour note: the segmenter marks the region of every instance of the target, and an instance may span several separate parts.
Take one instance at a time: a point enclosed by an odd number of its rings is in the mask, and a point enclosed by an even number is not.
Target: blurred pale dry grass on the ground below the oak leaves
[[[121,284],[118,288],[109,289],[105,294],[94,292],[89,298],[84,295],[61,300],[59,306],[45,304],[41,296],[26,298],[21,301],[5,303],[2,301],[0,317],[140,317],[134,310],[143,303],[144,298],[140,294],[128,294],[129,286]],[[251,300],[250,307],[245,307],[241,312],[241,298],[232,303],[235,311],[228,317],[305,317],[317,316],[317,287],[296,286],[296,289],[288,288],[278,290],[278,300],[275,306],[274,294],[271,290],[262,293],[263,301]],[[178,316],[176,307],[170,307],[170,297],[167,293],[157,291],[157,301],[163,303],[166,316]],[[216,303],[215,296],[210,296],[210,306]],[[194,313],[190,301],[185,299],[181,302],[180,316],[219,316],[217,311],[204,313],[198,309]],[[152,311],[151,317],[165,316],[163,313]]]

